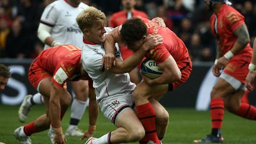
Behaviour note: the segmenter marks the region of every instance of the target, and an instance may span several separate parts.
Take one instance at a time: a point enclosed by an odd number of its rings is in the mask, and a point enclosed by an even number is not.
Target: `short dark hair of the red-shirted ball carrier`
[[[146,24],[140,18],[131,18],[124,21],[121,26],[120,36],[127,46],[142,39],[147,34]]]

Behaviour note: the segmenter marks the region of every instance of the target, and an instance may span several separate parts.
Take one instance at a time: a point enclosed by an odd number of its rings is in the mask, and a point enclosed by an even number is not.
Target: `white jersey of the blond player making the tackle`
[[[109,33],[112,28],[106,27]],[[115,74],[107,70],[101,71],[101,60],[105,55],[103,44],[87,44],[86,41],[82,46],[82,64],[88,75],[92,78],[93,87],[97,100],[116,94],[132,94],[136,85],[130,82],[129,73]],[[118,45],[116,44],[115,55],[123,60]]]

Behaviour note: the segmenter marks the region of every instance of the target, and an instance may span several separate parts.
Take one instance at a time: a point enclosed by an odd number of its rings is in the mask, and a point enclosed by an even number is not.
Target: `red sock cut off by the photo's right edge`
[[[237,115],[245,119],[256,120],[256,108],[247,103],[241,103]]]

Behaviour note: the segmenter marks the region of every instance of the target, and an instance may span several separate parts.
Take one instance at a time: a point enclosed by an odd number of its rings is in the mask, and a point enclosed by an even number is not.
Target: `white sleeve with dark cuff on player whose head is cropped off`
[[[53,2],[44,9],[40,19],[41,23],[54,27],[54,25],[57,23],[60,12],[56,6],[56,2]]]

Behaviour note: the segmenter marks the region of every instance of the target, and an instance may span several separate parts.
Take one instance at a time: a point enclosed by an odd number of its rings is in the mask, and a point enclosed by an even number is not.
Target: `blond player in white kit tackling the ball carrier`
[[[117,127],[110,133],[96,139],[90,137],[85,143],[127,143],[137,142],[145,136],[145,130],[136,116],[133,107],[132,92],[136,87],[130,82],[127,72],[132,71],[142,60],[146,51],[162,43],[162,37],[147,36],[140,50],[123,61],[116,44],[116,65],[111,69],[102,66],[105,50],[103,42],[105,34],[112,28],[105,27],[107,17],[100,10],[89,7],[82,11],[76,21],[84,33],[82,47],[82,63],[85,71],[92,78],[93,87],[101,112]],[[157,129],[165,129],[168,125],[168,113],[156,100],[151,100],[156,111]]]

